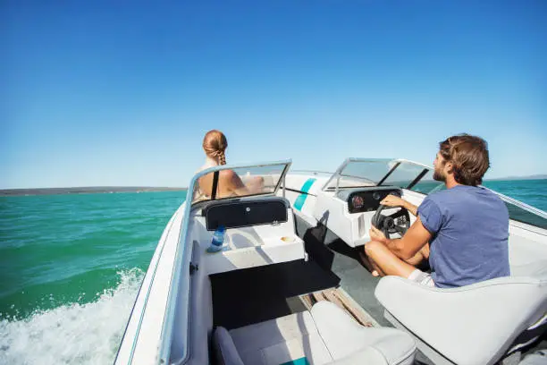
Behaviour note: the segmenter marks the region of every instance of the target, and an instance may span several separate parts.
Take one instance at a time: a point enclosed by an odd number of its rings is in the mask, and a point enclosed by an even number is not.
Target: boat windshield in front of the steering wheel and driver
[[[444,188],[433,180],[433,169],[416,162],[391,158],[348,158],[332,174],[323,189],[336,191],[366,186],[399,186],[429,194]]]

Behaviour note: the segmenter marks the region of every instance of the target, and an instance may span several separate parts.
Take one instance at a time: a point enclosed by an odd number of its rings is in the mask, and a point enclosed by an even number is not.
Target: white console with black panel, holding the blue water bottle
[[[275,204],[276,207],[279,207],[280,201],[282,201],[276,197],[263,199]],[[245,200],[245,204],[252,206],[258,201],[257,199],[248,199]],[[235,204],[240,205],[242,202],[243,200],[240,200]],[[229,204],[229,202],[223,202],[221,207],[224,208],[225,204]],[[248,207],[245,204],[238,209],[245,210]],[[190,222],[192,239],[199,242],[200,250],[207,263],[207,273],[216,274],[241,268],[306,259],[304,242],[295,232],[292,210],[284,200],[282,204],[285,207],[283,215],[286,220],[284,222],[273,221],[270,224],[228,228],[224,233],[223,250],[218,252],[207,251],[213,238],[213,232],[207,229],[206,216],[203,216],[198,210],[195,211]],[[279,211],[275,214],[278,215]]]

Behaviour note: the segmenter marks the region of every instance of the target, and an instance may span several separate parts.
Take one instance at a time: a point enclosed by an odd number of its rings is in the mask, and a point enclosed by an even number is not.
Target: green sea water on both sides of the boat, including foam
[[[487,187],[547,211],[547,180]],[[186,191],[0,197],[0,364],[114,361]]]

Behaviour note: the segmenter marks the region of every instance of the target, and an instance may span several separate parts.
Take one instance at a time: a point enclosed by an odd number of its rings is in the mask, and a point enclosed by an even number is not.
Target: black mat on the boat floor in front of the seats
[[[227,329],[306,310],[298,295],[332,288],[340,278],[314,261],[291,261],[215,274],[214,326]]]

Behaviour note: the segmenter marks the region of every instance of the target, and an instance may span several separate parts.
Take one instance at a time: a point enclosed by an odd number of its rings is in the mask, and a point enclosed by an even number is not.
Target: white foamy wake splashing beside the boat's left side
[[[97,301],[37,310],[25,319],[2,319],[0,363],[112,363],[144,272],[132,268],[118,275],[120,284]]]

